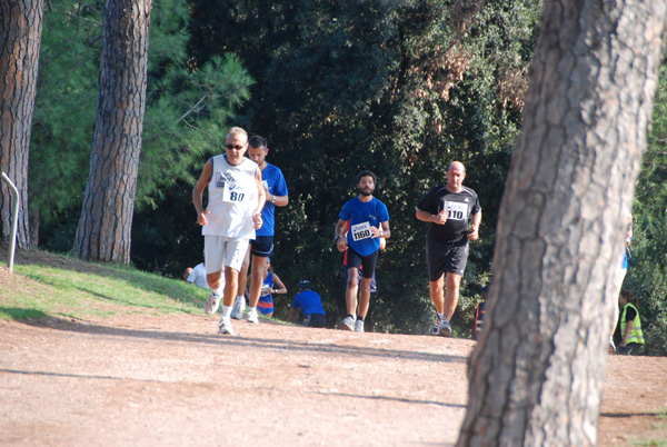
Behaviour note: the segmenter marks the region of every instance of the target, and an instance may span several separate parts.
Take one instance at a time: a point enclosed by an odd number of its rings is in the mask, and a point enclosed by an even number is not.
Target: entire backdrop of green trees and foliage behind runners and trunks
[[[102,0],[48,2],[30,160],[43,246],[71,247],[97,102]],[[454,319],[469,336],[488,284],[495,228],[520,127],[541,2],[527,0],[162,0],[153,3],[137,209],[136,266],[179,277],[201,260],[191,188],[226,128],[269,141],[290,205],[277,211],[273,266],[290,292],[308,278],[336,319],[344,294],[332,242],[362,169],[379,178],[392,237],[381,254],[374,330],[422,334],[428,296],[419,198],[460,160],[482,205]],[[236,56],[232,56],[236,54]],[[241,63],[242,61],[242,63]],[[255,80],[255,81],[253,81]],[[665,355],[667,68],[660,72],[635,205],[626,287],[639,297],[649,354]],[[332,322],[332,321],[330,321]]]

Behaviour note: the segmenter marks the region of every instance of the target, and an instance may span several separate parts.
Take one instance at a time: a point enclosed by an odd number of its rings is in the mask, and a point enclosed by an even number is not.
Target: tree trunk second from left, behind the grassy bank
[[[151,0],[107,0],[90,172],[74,254],[130,261],[130,235],[143,131]]]

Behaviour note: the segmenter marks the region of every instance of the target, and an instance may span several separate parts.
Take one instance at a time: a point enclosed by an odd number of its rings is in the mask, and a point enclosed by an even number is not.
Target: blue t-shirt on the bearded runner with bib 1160
[[[370,201],[361,201],[356,197],[345,203],[338,217],[350,221],[348,246],[352,250],[361,256],[370,256],[380,249],[380,238],[374,238],[369,227],[381,229],[380,224],[389,220],[385,203],[375,197]]]

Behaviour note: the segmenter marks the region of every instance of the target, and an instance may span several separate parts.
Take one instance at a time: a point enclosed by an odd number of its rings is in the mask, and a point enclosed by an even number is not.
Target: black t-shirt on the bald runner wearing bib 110
[[[450,192],[445,185],[431,188],[426,196],[419,200],[417,209],[437,215],[442,210],[445,203],[449,215],[445,225],[432,224],[428,230],[429,239],[438,242],[457,242],[468,234],[468,220],[470,216],[481,211],[477,192],[464,187],[460,192]]]

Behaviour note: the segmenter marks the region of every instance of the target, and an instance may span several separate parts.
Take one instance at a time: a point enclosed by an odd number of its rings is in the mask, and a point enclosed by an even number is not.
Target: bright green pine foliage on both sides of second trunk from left
[[[89,169],[104,2],[63,0],[44,11],[30,159],[31,215],[42,247],[72,246]],[[252,79],[233,54],[188,67],[186,0],[153,4],[147,106],[136,195],[155,208],[178,181],[193,183],[217,153],[226,122],[249,98]],[[222,137],[221,137],[222,136]]]

